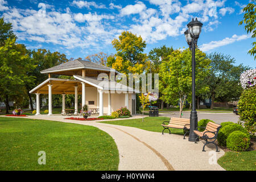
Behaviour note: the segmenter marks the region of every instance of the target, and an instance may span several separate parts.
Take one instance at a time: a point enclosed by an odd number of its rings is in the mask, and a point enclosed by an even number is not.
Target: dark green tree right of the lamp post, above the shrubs
[[[210,97],[212,98],[210,109],[213,109],[214,101],[226,102],[236,100],[242,93],[239,85],[240,75],[248,69],[242,64],[235,66],[235,59],[230,55],[222,53],[211,53],[208,55],[210,62],[210,72],[207,84],[210,88]]]

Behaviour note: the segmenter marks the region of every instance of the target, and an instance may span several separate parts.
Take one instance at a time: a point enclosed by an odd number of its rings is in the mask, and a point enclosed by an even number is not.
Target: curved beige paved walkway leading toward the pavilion
[[[55,115],[34,115],[26,118],[77,123],[105,131],[117,144],[119,170],[224,170],[218,164],[214,164],[212,159],[215,156],[216,159],[220,158],[225,152],[221,149],[220,152],[213,152],[215,151],[214,145],[205,147],[207,152],[202,152],[204,142],[201,140],[195,144],[188,142],[188,139],[184,140],[181,135],[162,135],[134,127],[109,125],[95,121],[68,120]]]

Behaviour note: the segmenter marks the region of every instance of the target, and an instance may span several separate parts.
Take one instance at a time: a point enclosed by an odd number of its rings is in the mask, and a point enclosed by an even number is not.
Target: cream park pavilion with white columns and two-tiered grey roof
[[[36,94],[36,115],[40,114],[40,94],[48,94],[48,115],[52,115],[52,94],[62,94],[62,114],[65,114],[65,95],[75,94],[75,113],[78,110],[78,94],[82,95],[81,106],[98,109],[99,115],[110,115],[120,107],[127,107],[131,114],[136,113],[136,93],[138,90],[120,84],[115,80],[115,69],[84,60],[73,60],[45,69],[48,79],[30,93]],[[71,76],[54,78],[53,76]],[[114,79],[110,79],[110,76]]]

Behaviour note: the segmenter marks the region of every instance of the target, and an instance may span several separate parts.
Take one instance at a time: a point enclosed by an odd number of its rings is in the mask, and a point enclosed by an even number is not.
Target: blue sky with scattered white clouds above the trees
[[[192,18],[204,24],[198,45],[204,52],[222,52],[236,64],[256,67],[247,55],[253,39],[238,23],[249,0],[44,1],[0,0],[0,14],[13,23],[18,43],[46,48],[70,57],[115,53],[112,40],[131,31],[152,48],[187,47],[183,32]],[[254,40],[255,41],[255,40]]]

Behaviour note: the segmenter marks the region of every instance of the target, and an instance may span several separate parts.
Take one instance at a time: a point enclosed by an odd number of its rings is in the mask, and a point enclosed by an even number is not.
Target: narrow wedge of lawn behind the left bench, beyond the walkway
[[[169,121],[169,120],[170,118],[167,118],[167,117],[146,117],[144,118],[144,122],[142,122],[142,119],[125,119],[125,120],[118,120],[118,121],[102,121],[102,123],[137,127],[138,129],[142,129],[142,130],[155,131],[155,132],[162,133],[163,131],[163,126],[161,126],[162,123],[164,121]],[[165,130],[164,133],[169,133],[169,131]],[[171,129],[171,133],[183,134],[183,130]]]

